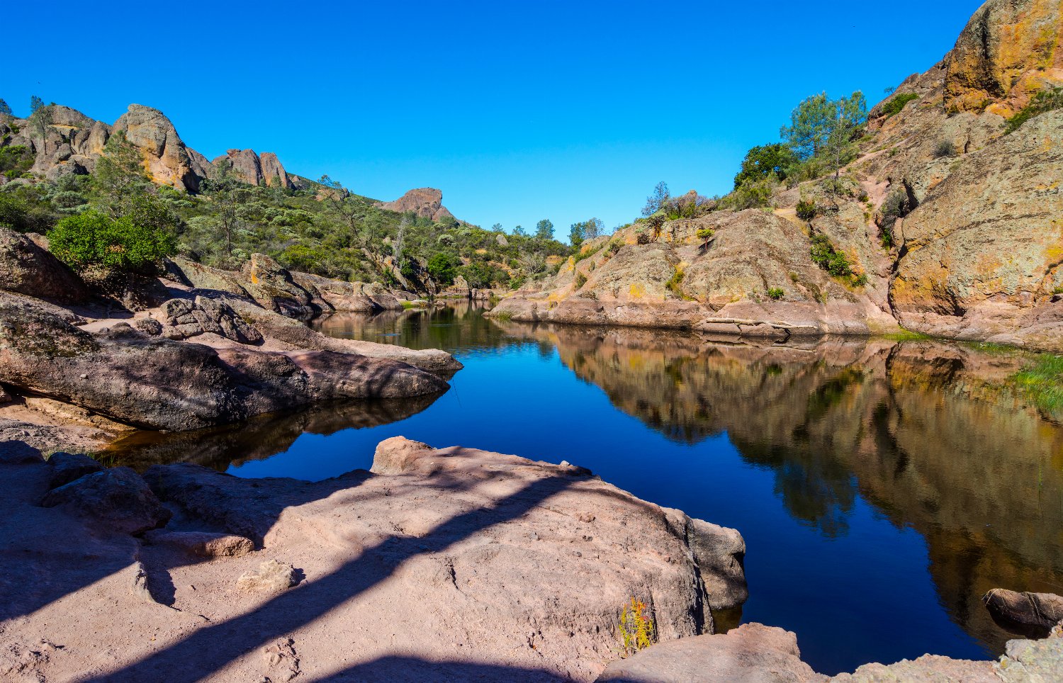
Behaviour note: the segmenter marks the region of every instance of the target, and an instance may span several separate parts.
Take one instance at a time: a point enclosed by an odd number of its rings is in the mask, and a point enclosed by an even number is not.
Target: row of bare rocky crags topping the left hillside
[[[35,155],[30,171],[51,181],[92,172],[109,137],[120,132],[144,155],[145,170],[158,185],[195,192],[222,161],[251,185],[294,185],[271,152],[259,156],[253,150],[229,150],[213,163],[207,160],[185,144],[165,114],[148,106],[131,104],[113,126],[62,105],[49,107],[49,115],[44,126],[31,119],[0,123],[0,147],[24,146]],[[0,183],[6,181],[0,176]]]

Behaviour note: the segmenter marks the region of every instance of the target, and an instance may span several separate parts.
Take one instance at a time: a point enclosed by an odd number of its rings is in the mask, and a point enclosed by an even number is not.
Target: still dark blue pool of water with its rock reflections
[[[319,480],[368,468],[402,434],[568,460],[739,529],[742,620],[795,631],[824,673],[927,651],[996,656],[1013,636],[982,594],[1063,593],[1063,427],[1009,388],[1016,354],[495,323],[465,305],[319,328],[444,348],[465,370],[436,398],[138,434],[116,457]]]

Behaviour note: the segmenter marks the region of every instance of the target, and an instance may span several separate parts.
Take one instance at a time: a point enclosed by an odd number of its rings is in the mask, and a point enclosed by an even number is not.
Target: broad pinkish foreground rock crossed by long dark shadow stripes
[[[0,678],[590,681],[632,596],[665,641],[744,597],[707,588],[744,584],[736,532],[571,465],[402,438],[318,483],[157,465],[173,517],[142,539],[39,507],[51,475],[32,449],[0,458],[21,484],[0,501]],[[168,540],[191,532],[257,549]]]

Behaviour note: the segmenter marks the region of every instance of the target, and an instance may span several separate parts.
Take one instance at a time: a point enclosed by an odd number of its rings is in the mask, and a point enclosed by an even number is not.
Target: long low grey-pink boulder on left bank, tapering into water
[[[149,429],[196,429],[332,398],[396,398],[446,389],[388,360],[331,351],[214,349],[117,324],[97,335],[0,297],[0,381]]]

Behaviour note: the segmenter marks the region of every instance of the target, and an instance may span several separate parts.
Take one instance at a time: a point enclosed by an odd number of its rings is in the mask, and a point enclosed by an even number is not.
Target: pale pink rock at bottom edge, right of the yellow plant
[[[722,635],[659,643],[609,664],[598,681],[624,683],[821,683],[800,660],[797,636],[762,624]]]

